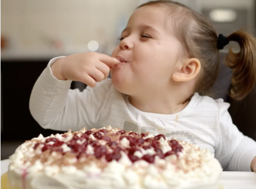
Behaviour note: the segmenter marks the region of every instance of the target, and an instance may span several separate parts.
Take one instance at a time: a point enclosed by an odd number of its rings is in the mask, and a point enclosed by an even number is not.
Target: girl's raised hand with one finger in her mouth
[[[86,52],[60,58],[51,65],[51,70],[59,80],[80,81],[95,87],[96,82],[106,79],[110,68],[118,63],[118,59],[106,54]]]

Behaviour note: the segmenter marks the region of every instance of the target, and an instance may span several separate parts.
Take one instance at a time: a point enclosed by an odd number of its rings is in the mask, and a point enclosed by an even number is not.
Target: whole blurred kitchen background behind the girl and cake
[[[32,87],[48,61],[56,56],[96,51],[111,55],[118,37],[135,8],[147,0],[2,0],[1,1],[1,160],[14,153],[16,147],[37,137],[58,131],[43,130],[32,118],[28,102]],[[254,0],[180,0],[202,13],[218,33],[228,35],[246,27],[255,34],[256,4]],[[221,57],[227,52],[226,47]],[[219,97],[232,102],[227,94],[232,71],[223,68],[216,87]],[[223,86],[223,82],[226,83]],[[73,82],[71,88],[86,86]],[[255,95],[253,96],[253,99]],[[255,100],[253,100],[255,102]],[[243,113],[245,102],[230,112]],[[248,102],[246,102],[248,103]],[[251,103],[249,103],[251,105]],[[246,105],[248,107],[249,105]],[[255,107],[251,107],[255,115]],[[250,110],[250,113],[253,112]],[[249,114],[250,114],[249,113]],[[248,115],[248,112],[244,112]],[[237,117],[237,116],[233,116]],[[234,122],[239,121],[234,119]],[[256,121],[248,125],[255,127]],[[256,138],[256,132],[240,130]],[[247,134],[246,133],[246,134]]]

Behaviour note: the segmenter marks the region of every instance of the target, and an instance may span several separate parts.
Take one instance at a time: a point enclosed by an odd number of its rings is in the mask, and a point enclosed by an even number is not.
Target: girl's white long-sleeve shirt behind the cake
[[[108,125],[197,144],[210,149],[224,170],[251,171],[256,142],[232,123],[228,103],[195,93],[185,109],[165,115],[143,112],[118,92],[110,79],[80,92],[70,80],[57,80],[51,73],[52,59],[38,78],[30,97],[30,112],[43,128],[73,131]]]

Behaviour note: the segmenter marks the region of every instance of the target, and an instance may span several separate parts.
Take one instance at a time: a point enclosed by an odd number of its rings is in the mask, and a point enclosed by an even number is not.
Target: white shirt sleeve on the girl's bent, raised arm
[[[33,118],[45,129],[67,131],[97,127],[111,80],[106,79],[82,92],[71,90],[70,80],[58,80],[52,75],[50,66],[59,58],[49,62],[32,89],[29,109]]]

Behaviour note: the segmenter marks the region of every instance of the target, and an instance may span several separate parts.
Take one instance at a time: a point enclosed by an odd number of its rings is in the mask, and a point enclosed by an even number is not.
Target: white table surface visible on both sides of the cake
[[[7,172],[9,160],[1,161],[1,175]],[[222,181],[226,189],[256,189],[256,173],[223,172]]]

